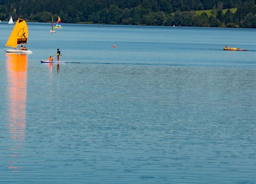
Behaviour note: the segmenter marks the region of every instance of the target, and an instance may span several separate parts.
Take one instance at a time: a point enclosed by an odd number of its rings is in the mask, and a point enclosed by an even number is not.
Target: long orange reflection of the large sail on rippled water
[[[27,102],[27,55],[16,53],[6,54],[6,72],[7,72],[7,101],[8,101],[8,121],[10,139],[14,141],[9,150],[12,151],[9,157],[22,157],[19,148],[25,139],[26,128],[26,102]],[[19,172],[17,163],[12,160],[8,168],[12,172]]]

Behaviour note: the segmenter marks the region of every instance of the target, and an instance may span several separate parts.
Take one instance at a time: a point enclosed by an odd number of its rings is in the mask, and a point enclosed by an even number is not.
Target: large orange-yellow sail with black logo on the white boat
[[[18,19],[12,33],[6,43],[6,46],[17,48],[17,45],[27,44],[28,26],[23,19]]]

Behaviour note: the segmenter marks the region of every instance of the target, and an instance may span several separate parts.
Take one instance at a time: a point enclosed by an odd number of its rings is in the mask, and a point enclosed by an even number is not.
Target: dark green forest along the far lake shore
[[[2,21],[50,22],[51,13],[62,23],[256,28],[252,0],[0,0]]]

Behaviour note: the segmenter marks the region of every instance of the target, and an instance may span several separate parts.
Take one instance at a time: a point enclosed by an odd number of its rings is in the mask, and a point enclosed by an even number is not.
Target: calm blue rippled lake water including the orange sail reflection
[[[20,55],[13,26],[0,183],[256,183],[255,29],[28,23]]]

